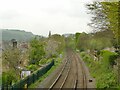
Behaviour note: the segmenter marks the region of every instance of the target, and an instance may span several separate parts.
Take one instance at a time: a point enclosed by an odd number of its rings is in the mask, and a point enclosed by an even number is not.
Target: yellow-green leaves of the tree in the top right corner
[[[116,37],[118,37],[118,17],[119,17],[119,3],[118,2],[101,2],[103,13],[107,16],[109,21],[109,29],[112,30]]]

